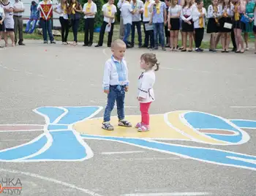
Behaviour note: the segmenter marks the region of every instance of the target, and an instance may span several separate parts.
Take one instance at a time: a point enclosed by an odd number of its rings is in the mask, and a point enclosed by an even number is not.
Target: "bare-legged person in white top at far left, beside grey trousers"
[[[14,35],[14,20],[13,20],[13,5],[9,0],[1,1],[1,7],[4,9],[4,42],[5,47],[8,46],[7,36],[10,36],[12,40],[12,47],[15,46],[15,35]]]

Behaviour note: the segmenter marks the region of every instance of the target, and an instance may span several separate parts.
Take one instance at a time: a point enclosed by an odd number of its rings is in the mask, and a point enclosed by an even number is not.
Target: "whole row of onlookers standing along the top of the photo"
[[[26,32],[32,33],[39,19],[44,43],[48,43],[48,36],[50,43],[56,43],[51,29],[52,20],[45,20],[40,13],[42,4],[53,3],[50,0],[40,1],[39,4],[32,1],[31,18],[27,23]],[[0,5],[0,33],[4,33],[5,46],[8,45],[7,36],[10,37],[12,46],[15,46],[17,42],[19,45],[24,45],[23,3],[20,0],[15,0],[14,4],[10,0],[2,0]],[[126,43],[127,48],[135,46],[135,29],[138,34],[138,47],[153,50],[161,46],[162,50],[170,47],[171,51],[179,49],[191,52],[193,42],[195,42],[195,51],[202,52],[201,43],[206,29],[206,33],[211,34],[209,51],[216,52],[217,44],[221,41],[222,52],[229,52],[231,38],[233,51],[244,53],[244,50],[249,50],[249,33],[254,33],[256,37],[255,0],[211,0],[207,10],[203,7],[203,0],[165,0],[165,2],[119,0],[117,7],[114,0],[109,0],[102,6],[103,22],[99,32],[99,41],[95,47],[102,46],[105,32],[108,32],[107,45],[110,47],[117,8],[121,11],[119,38]],[[94,1],[88,0],[82,7],[78,0],[69,2],[60,0],[60,3],[54,6],[53,11],[59,14],[62,44],[68,44],[69,28],[72,26],[73,45],[77,45],[78,25],[82,17],[85,29],[83,46],[93,44],[94,18],[97,15],[97,5]],[[32,21],[34,23],[30,29]],[[142,23],[143,30],[141,29]],[[145,34],[144,40],[142,40],[142,31]],[[18,32],[19,39],[17,38]],[[180,47],[178,47],[179,33],[182,42]]]

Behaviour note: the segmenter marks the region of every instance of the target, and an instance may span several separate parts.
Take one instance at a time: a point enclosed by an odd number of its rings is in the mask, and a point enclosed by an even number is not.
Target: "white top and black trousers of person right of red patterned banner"
[[[67,37],[69,35],[69,17],[67,15],[67,6],[61,7],[61,4],[58,4],[56,10],[60,12],[59,22],[61,23],[61,40],[62,42],[67,42]]]

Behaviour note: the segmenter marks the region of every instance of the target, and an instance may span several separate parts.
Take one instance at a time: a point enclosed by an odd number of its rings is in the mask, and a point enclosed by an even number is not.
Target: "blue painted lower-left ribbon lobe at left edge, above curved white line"
[[[47,138],[43,136],[34,143],[26,144],[24,146],[0,152],[0,160],[14,160],[27,157],[31,154],[37,153],[37,151],[39,151],[43,146],[45,146],[46,143]]]

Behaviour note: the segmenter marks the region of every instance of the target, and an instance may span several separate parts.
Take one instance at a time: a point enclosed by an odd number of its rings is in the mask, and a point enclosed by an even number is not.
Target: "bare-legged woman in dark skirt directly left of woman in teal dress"
[[[242,30],[245,28],[244,23],[241,21],[241,17],[244,15],[246,9],[246,1],[236,0],[234,4],[234,33],[236,38],[236,53],[244,53],[244,41],[241,36]]]

